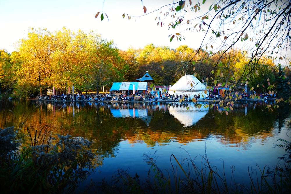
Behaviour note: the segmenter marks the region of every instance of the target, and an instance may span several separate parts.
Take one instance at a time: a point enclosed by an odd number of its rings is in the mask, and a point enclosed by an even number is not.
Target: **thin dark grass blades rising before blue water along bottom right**
[[[182,148],[180,148],[182,149]],[[290,149],[290,147],[289,147]],[[205,148],[206,150],[206,148]],[[186,150],[183,150],[186,151]],[[188,154],[188,153],[187,153]],[[161,170],[156,163],[156,158],[151,154],[144,154],[145,162],[150,165],[147,179],[140,180],[138,175],[131,176],[129,169],[118,169],[111,182],[103,180],[102,183],[94,183],[92,187],[103,193],[289,193],[291,188],[290,163],[284,166],[279,163],[269,168],[252,169],[249,166],[249,184],[235,181],[232,167],[231,177],[227,177],[224,164],[223,169],[212,166],[204,155],[198,155],[194,159],[188,154],[179,161],[175,155],[171,155],[172,168]],[[290,156],[288,156],[290,157]],[[287,159],[288,157],[284,158]],[[283,170],[284,169],[284,170]]]

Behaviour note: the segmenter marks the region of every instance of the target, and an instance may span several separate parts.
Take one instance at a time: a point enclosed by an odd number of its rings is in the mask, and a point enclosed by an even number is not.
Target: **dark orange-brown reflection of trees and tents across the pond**
[[[203,103],[203,102],[200,102]],[[168,142],[187,144],[212,137],[221,144],[247,149],[252,138],[273,136],[289,115],[287,105],[274,110],[274,102],[244,101],[234,104],[229,115],[214,104],[196,108],[193,103],[112,103],[112,102],[39,102],[9,101],[1,106],[1,128],[14,125],[26,133],[46,128],[52,134],[83,136],[93,141],[93,149],[102,164],[114,156],[121,140],[144,142],[148,147]]]

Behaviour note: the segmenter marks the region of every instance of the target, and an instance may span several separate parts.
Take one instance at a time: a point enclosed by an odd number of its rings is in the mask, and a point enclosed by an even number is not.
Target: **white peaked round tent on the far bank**
[[[168,93],[170,95],[178,94],[178,96],[180,96],[180,94],[187,94],[189,96],[190,94],[191,99],[194,97],[195,94],[200,94],[200,99],[205,99],[205,90],[206,86],[202,82],[200,82],[195,76],[184,75],[171,88],[169,88]],[[209,95],[208,90],[207,94]]]

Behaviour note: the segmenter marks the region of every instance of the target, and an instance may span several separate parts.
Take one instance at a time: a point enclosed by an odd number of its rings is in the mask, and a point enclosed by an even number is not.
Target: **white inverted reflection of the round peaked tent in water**
[[[193,108],[192,108],[193,107]],[[201,108],[196,108],[195,106],[187,108],[185,107],[169,107],[170,115],[173,115],[181,124],[185,127],[196,124],[201,118],[203,118],[209,110],[209,107],[204,108],[203,105]]]

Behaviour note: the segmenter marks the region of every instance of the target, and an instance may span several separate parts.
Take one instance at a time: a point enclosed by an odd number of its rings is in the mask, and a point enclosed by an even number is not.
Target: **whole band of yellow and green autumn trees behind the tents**
[[[247,80],[248,87],[258,92],[269,92],[281,84],[287,97],[290,90],[288,68],[262,56],[253,70],[250,56],[239,48],[214,54],[187,45],[170,49],[148,44],[124,51],[96,31],[74,32],[65,27],[54,32],[30,28],[27,38],[19,40],[15,47],[11,54],[0,50],[1,88],[13,89],[15,97],[28,98],[53,87],[66,93],[72,86],[99,93],[113,82],[136,81],[146,71],[156,86],[174,84],[181,76],[194,74],[209,89],[218,83],[244,87]]]

